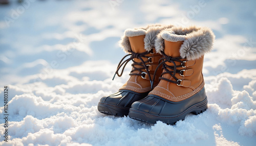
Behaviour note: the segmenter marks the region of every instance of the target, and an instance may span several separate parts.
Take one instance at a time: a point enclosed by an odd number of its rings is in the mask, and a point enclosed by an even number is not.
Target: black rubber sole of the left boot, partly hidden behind
[[[99,102],[98,104],[98,111],[100,113],[114,116],[127,116],[129,114],[129,109],[130,108],[106,104],[103,102]]]

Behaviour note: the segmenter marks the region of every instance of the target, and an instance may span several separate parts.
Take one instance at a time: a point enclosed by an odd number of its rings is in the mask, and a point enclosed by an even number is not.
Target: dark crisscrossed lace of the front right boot
[[[184,67],[184,62],[185,61],[182,61],[181,57],[170,57],[170,56],[167,56],[164,54],[163,51],[161,51],[161,54],[163,55],[162,58],[160,58],[159,62],[158,62],[158,66],[154,72],[154,76],[153,76],[153,83],[155,81],[155,77],[156,77],[156,71],[159,69],[159,67],[161,65],[162,66],[162,69],[164,69],[165,71],[162,72],[161,76],[159,77],[159,80],[165,80],[167,82],[171,82],[171,83],[175,83],[177,84],[178,86],[180,86],[180,82],[182,80],[178,79],[175,75],[176,74],[180,74],[181,71],[183,70],[178,70],[177,67]],[[176,65],[176,62],[180,62],[181,65]],[[160,63],[161,62],[161,63]],[[173,63],[174,65],[170,66],[170,65],[167,65],[166,62],[169,62],[169,63]],[[172,81],[172,80],[169,80],[169,79],[166,79],[166,78],[163,78],[162,75],[164,74],[169,74],[170,76],[172,76],[172,78],[174,78],[176,81]]]

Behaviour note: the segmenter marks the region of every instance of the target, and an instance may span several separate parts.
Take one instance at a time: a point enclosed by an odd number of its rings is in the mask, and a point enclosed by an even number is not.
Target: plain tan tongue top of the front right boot
[[[164,40],[164,54],[170,57],[180,57],[180,47],[183,41],[167,41]]]

